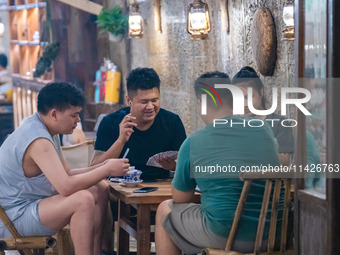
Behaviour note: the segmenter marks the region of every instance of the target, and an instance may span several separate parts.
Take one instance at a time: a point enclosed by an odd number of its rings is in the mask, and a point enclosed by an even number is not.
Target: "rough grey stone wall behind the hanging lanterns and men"
[[[161,0],[162,32],[154,29],[153,1],[139,2],[144,37],[111,43],[111,59],[121,68],[123,77],[136,67],[154,68],[162,81],[162,107],[179,114],[188,133],[201,126],[192,97],[193,82],[199,75],[217,70],[233,77],[245,65],[257,70],[250,34],[252,18],[259,7],[267,7],[272,12],[278,42],[274,74],[260,75],[260,78],[266,89],[293,85],[294,43],[281,41],[283,0],[229,0],[230,33],[225,31],[225,20],[221,20],[220,1],[206,0],[212,30],[204,41],[193,41],[186,31],[186,10],[192,0]],[[110,1],[112,6],[116,3],[123,1]]]

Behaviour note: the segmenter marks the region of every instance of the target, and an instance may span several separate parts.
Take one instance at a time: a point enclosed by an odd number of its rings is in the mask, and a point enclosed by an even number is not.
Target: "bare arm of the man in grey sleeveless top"
[[[47,139],[32,142],[26,150],[25,157],[30,157],[35,162],[62,196],[87,189],[107,176],[124,175],[130,166],[127,159],[112,159],[92,171],[69,176],[54,146]]]

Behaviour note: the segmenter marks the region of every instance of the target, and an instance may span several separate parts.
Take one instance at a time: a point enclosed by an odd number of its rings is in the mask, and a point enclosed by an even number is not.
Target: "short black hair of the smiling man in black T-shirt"
[[[159,76],[153,68],[138,67],[133,69],[126,78],[128,94],[131,94],[131,92],[136,92],[138,89],[159,89],[160,83],[161,81]]]

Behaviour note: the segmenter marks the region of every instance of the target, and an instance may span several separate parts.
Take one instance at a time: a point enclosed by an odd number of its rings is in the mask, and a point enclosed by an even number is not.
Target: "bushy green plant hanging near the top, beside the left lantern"
[[[112,9],[102,9],[96,21],[101,28],[100,33],[106,31],[115,36],[125,35],[129,30],[129,18],[122,12],[122,8],[116,5]]]

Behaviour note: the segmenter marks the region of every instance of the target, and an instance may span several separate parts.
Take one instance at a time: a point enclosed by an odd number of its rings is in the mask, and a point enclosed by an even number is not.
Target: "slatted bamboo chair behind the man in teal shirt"
[[[212,249],[205,248],[202,250],[202,255],[241,255],[241,254],[254,254],[254,255],[264,255],[264,254],[294,254],[293,250],[287,250],[287,229],[288,229],[288,213],[290,208],[290,191],[291,191],[291,178],[281,178],[282,173],[275,172],[253,172],[253,173],[242,173],[240,179],[244,181],[242,193],[235,211],[234,221],[229,233],[227,244],[224,250],[222,249]],[[232,251],[233,243],[236,237],[237,228],[242,217],[242,211],[246,204],[247,196],[254,180],[266,180],[265,191],[263,195],[261,212],[259,215],[259,223],[257,227],[257,233],[255,238],[254,251],[252,253],[240,253]],[[284,185],[282,186],[282,180]],[[270,194],[272,190],[273,181],[275,181],[274,193],[271,198],[272,200],[272,212],[269,226],[269,236],[267,243],[267,251],[261,252],[261,245],[263,239],[263,232],[265,227],[266,215],[268,211],[268,206],[270,202]],[[284,192],[284,204],[283,204],[283,215],[282,215],[282,225],[281,225],[281,243],[280,251],[274,251],[276,225],[277,225],[277,215],[278,215],[278,205],[280,199],[281,188],[285,189]]]

